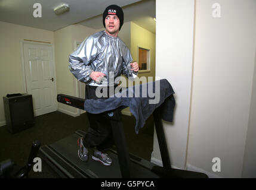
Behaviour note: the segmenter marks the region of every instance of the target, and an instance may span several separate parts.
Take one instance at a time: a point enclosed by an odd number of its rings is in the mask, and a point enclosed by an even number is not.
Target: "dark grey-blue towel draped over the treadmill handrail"
[[[106,100],[85,100],[84,110],[89,113],[103,113],[118,107],[129,107],[136,119],[135,132],[143,128],[147,118],[161,106],[162,119],[172,122],[175,107],[174,90],[166,79],[126,88]]]

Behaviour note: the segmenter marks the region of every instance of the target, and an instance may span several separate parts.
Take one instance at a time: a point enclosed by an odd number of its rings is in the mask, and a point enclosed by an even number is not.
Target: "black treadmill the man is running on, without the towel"
[[[84,110],[85,99],[58,94],[57,101]],[[121,108],[101,113],[112,125],[116,150],[111,149],[111,166],[103,166],[89,157],[82,162],[78,157],[77,140],[85,132],[76,131],[69,137],[39,149],[39,157],[61,178],[208,178],[204,173],[172,169],[162,125],[161,106],[153,112],[163,167],[128,153],[124,128],[121,122]]]

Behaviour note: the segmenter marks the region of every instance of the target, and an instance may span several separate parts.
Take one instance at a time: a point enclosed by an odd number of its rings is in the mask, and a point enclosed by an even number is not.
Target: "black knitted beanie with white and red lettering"
[[[119,7],[118,5],[109,5],[109,7],[107,7],[105,9],[105,11],[103,12],[103,26],[106,29],[105,26],[105,18],[107,17],[107,15],[117,15],[119,20],[120,20],[120,27],[119,30],[121,30],[121,27],[124,24],[124,12],[122,10],[121,7]]]

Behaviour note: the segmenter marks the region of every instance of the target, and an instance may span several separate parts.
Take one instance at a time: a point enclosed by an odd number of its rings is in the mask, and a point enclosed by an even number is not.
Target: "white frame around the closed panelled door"
[[[46,45],[50,46],[52,49],[52,55],[53,55],[53,77],[54,77],[54,96],[56,97],[54,101],[55,107],[54,110],[56,111],[58,108],[57,105],[57,80],[56,80],[56,69],[55,69],[55,54],[54,54],[54,45],[52,43],[44,43],[44,42],[32,42],[32,41],[27,41],[27,40],[20,40],[20,52],[21,52],[21,67],[22,67],[22,77],[23,77],[23,90],[25,93],[27,93],[27,83],[26,83],[26,72],[25,72],[25,63],[24,63],[24,50],[23,50],[23,45],[24,44],[32,44],[32,45]]]

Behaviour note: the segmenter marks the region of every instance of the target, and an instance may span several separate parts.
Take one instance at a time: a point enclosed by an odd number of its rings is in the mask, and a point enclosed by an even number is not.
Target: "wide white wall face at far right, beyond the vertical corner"
[[[210,175],[240,178],[252,100],[256,1],[220,0],[221,17],[213,18],[215,2],[196,1],[187,164]],[[253,122],[251,118],[251,131],[255,131]],[[248,143],[247,158],[255,140],[251,137]],[[214,157],[221,159],[221,172],[212,172]]]

